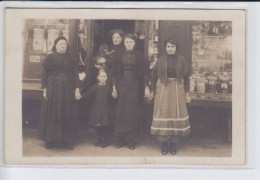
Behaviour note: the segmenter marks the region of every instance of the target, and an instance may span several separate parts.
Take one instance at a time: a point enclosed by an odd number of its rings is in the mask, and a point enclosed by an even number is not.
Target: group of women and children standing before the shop
[[[76,100],[84,98],[92,104],[88,121],[98,132],[95,146],[110,145],[112,128],[115,147],[127,145],[133,150],[141,124],[140,104],[145,97],[154,99],[151,134],[162,142],[161,153],[176,154],[176,143],[190,133],[186,103],[191,101],[191,69],[185,58],[178,54],[176,40],[165,41],[167,54],[153,65],[150,77],[149,62],[135,49],[135,36],[115,29],[111,31],[111,38],[113,44],[102,44],[94,58],[97,82],[86,90],[78,87],[80,79],[74,59],[68,54],[66,38],[55,40],[53,53],[43,62],[39,130],[45,147],[74,149],[73,106]]]

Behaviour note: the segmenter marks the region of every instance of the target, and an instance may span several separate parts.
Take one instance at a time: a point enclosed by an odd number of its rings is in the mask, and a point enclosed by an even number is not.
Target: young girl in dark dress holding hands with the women
[[[107,84],[107,73],[104,70],[98,72],[98,83],[92,86],[86,93],[82,93],[82,98],[92,98],[92,107],[89,115],[90,125],[95,127],[98,138],[95,146],[105,148],[110,145],[109,129],[113,122],[113,112],[111,109],[112,88]]]

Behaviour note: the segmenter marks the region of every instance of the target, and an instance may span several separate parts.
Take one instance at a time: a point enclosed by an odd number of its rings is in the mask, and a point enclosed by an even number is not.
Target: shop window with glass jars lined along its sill
[[[231,22],[193,22],[192,40],[190,91],[232,93]]]

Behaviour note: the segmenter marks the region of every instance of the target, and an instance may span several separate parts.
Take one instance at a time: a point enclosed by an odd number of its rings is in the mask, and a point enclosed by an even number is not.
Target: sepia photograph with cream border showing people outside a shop
[[[243,10],[7,9],[5,162],[245,165],[245,23]]]

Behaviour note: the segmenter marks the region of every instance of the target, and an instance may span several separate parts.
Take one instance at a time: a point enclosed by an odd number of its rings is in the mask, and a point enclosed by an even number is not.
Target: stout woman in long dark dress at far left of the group
[[[79,97],[76,89],[76,68],[68,54],[65,37],[55,40],[53,53],[43,61],[43,102],[39,123],[40,138],[51,149],[62,145],[74,149],[74,102]]]

